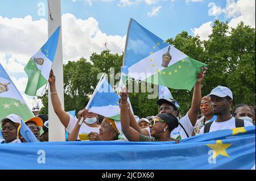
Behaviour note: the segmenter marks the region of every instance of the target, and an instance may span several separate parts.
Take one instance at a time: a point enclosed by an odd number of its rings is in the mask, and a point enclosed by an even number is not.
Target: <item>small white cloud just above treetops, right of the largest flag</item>
[[[204,23],[199,28],[193,28],[191,31],[194,35],[199,35],[201,40],[208,40],[208,36],[212,33],[212,23],[213,22]]]

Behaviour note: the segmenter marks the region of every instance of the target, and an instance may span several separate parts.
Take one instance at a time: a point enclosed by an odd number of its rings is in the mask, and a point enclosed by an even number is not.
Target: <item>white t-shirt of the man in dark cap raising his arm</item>
[[[179,123],[183,126],[185,131],[188,133],[188,136],[191,137],[191,134],[192,134],[192,131],[193,131],[194,127],[192,126],[191,121],[189,120],[188,112],[187,112],[187,114],[184,117],[182,117],[180,119]],[[171,138],[174,138],[176,140],[182,140],[184,138],[187,138],[187,135],[186,135],[186,133],[185,133],[183,128],[181,128],[181,126],[178,125],[177,128],[172,130]]]

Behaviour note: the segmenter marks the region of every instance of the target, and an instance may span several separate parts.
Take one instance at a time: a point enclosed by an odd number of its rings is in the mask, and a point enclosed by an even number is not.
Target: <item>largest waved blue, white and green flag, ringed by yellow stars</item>
[[[131,19],[123,66],[128,68],[128,77],[191,91],[206,64],[188,57]]]

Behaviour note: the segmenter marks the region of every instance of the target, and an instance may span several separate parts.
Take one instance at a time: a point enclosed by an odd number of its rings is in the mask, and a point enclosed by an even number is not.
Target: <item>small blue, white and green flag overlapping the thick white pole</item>
[[[25,94],[35,96],[36,91],[48,82],[49,72],[52,68],[59,41],[59,33],[60,27],[53,32],[46,44],[44,44],[43,47],[30,58],[25,66],[24,70],[28,76]]]

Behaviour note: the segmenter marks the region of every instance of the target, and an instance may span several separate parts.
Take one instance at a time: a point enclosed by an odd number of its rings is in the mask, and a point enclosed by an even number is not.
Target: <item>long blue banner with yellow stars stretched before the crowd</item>
[[[0,162],[1,169],[255,169],[255,127],[200,134],[179,144],[174,141],[0,144],[0,160],[5,161]]]

